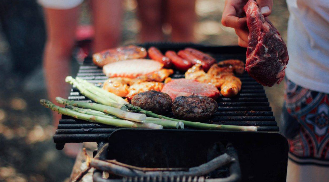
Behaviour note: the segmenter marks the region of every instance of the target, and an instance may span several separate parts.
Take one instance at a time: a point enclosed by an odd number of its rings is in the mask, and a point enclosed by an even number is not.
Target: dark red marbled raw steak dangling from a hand
[[[243,7],[249,29],[245,70],[265,86],[280,83],[285,76],[289,56],[278,30],[264,18],[256,1],[249,0]]]

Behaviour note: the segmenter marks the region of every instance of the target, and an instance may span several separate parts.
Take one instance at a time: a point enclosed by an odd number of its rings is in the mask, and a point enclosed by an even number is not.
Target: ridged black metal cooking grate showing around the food
[[[226,59],[245,60],[245,49],[238,46],[201,46],[194,44],[144,44],[146,48],[149,46],[157,46],[162,51],[169,49],[178,51],[185,47],[195,47],[201,51],[211,54],[216,61]],[[98,86],[107,79],[102,69],[94,65],[90,58],[80,66],[78,77],[88,80]],[[184,73],[175,71],[172,78],[184,78]],[[218,109],[215,116],[209,121],[213,124],[229,124],[257,126],[258,131],[278,132],[279,127],[269,106],[263,86],[257,83],[247,73],[237,75],[242,81],[240,93],[233,98],[219,97],[217,99]],[[81,95],[76,88],[71,89],[69,100],[80,100],[91,102],[88,98]],[[168,115],[173,117],[172,114]],[[90,123],[88,121],[77,120],[75,118],[63,116],[58,125],[54,142],[57,148],[62,149],[65,143],[70,142],[101,142],[106,141],[110,134],[117,128],[111,126]],[[187,128],[188,129],[188,128]]]

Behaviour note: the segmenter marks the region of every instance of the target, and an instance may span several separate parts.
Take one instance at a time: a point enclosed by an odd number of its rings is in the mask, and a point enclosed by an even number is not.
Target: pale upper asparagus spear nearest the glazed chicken
[[[87,82],[87,80],[83,80],[79,77],[75,78],[79,83],[84,84],[84,86],[90,91],[90,92],[94,92],[94,91],[98,91],[100,94],[102,94],[103,96],[110,98],[112,100],[114,100],[115,102],[119,103],[119,104],[128,104],[129,102],[127,102],[126,100],[124,100],[122,97],[115,95],[114,93],[108,92],[102,88],[99,88],[98,86],[95,86],[92,83]]]

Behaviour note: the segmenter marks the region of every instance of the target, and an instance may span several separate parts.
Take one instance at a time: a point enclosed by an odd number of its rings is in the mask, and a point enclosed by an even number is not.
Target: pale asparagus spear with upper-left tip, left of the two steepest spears
[[[81,94],[83,94],[84,96],[88,97],[89,99],[91,99],[91,100],[93,100],[97,103],[101,103],[101,104],[108,105],[108,106],[111,106],[111,107],[119,108],[119,109],[124,110],[124,111],[127,109],[123,104],[115,103],[114,100],[111,100],[111,99],[106,98],[106,97],[99,97],[95,93],[90,92],[88,89],[86,89],[82,84],[77,82],[71,76],[67,76],[65,78],[65,82],[70,83],[71,85],[75,85],[79,89]]]

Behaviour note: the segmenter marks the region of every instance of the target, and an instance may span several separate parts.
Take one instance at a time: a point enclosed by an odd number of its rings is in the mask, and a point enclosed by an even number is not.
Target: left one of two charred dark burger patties
[[[170,111],[172,100],[166,93],[151,90],[135,95],[131,104],[156,114],[165,114]]]

